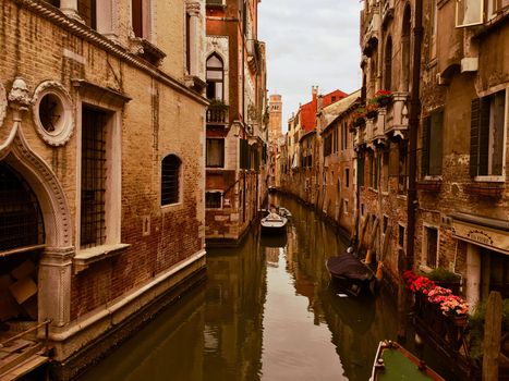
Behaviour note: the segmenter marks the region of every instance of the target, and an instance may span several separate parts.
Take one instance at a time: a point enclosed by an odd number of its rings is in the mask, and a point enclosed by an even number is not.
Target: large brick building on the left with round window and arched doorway
[[[0,319],[49,320],[68,378],[203,275],[205,2],[5,0],[0,23]]]

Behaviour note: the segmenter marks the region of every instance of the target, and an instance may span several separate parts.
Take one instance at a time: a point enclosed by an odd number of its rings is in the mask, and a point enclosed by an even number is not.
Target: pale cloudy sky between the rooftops
[[[337,88],[361,87],[359,0],[262,0],[258,39],[267,45],[269,94],[283,101],[283,131],[299,103]]]

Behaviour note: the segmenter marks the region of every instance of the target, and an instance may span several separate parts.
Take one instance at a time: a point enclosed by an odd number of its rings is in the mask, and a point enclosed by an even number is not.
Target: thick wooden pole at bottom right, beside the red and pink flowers
[[[502,327],[502,298],[499,292],[489,293],[484,321],[483,381],[498,380],[498,357]]]

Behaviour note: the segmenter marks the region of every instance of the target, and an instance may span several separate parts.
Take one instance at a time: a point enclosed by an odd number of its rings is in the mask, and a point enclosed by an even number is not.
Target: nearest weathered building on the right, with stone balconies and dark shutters
[[[364,168],[361,208],[378,220],[377,251],[388,228],[386,271],[397,275],[407,250],[412,73],[420,71],[416,121],[416,209],[413,256],[424,271],[463,278],[471,306],[492,290],[507,298],[509,213],[507,156],[509,3],[507,1],[365,1],[361,46],[366,105],[379,89],[386,106],[357,128]],[[466,9],[469,5],[469,9]],[[411,60],[422,24],[421,64]],[[361,213],[362,214],[362,213]],[[386,260],[384,259],[384,262]]]

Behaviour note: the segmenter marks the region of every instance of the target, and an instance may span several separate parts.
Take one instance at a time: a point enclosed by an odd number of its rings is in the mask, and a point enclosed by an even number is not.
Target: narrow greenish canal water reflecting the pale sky
[[[158,315],[81,381],[368,380],[378,342],[396,339],[396,304],[341,297],[324,262],[335,231],[293,199],[287,239],[253,229],[209,249],[208,279]]]

